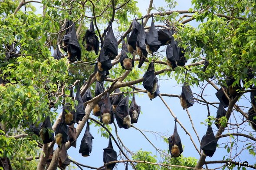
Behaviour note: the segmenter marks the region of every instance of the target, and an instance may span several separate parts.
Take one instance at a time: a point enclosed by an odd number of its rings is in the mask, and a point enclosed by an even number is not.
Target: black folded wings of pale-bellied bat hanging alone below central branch
[[[148,90],[149,92],[152,91],[154,83],[157,81],[156,76],[154,75],[154,64],[153,62],[151,62],[148,65],[148,70],[146,71],[146,73],[143,76],[143,87]]]

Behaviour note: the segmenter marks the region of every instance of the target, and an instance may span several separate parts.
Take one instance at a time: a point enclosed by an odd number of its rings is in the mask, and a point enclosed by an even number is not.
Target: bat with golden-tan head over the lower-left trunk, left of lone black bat
[[[56,144],[58,144],[59,146],[69,141],[69,128],[65,122],[60,122],[57,125],[55,131],[55,140]]]

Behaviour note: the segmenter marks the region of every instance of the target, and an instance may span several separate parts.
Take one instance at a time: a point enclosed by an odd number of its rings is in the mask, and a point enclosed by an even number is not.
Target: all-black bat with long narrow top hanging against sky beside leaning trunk
[[[94,139],[94,137],[90,133],[90,124],[87,121],[85,134],[79,148],[79,153],[82,154],[83,157],[88,157],[90,156],[90,153],[92,153],[92,139]]]

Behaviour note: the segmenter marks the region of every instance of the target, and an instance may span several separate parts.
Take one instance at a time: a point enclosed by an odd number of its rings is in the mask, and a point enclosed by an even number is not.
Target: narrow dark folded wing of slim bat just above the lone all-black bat
[[[75,106],[76,109],[76,118],[75,118],[75,122],[79,122],[80,120],[82,120],[82,118],[85,115],[85,109],[84,109],[84,102],[82,101],[82,97],[80,94],[80,87],[79,85],[76,86],[76,95],[75,95],[75,100],[78,101],[77,106]]]

